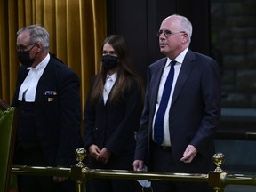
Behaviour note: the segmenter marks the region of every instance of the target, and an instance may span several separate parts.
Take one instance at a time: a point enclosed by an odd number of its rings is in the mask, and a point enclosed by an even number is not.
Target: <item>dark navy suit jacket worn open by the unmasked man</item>
[[[157,60],[148,67],[146,99],[135,152],[135,159],[148,163],[149,169],[152,122],[165,62],[166,58]],[[207,172],[210,169],[214,153],[213,136],[220,120],[219,74],[214,60],[188,49],[169,111],[172,154],[178,172]],[[180,162],[180,158],[189,144],[195,146],[198,153],[188,165]]]

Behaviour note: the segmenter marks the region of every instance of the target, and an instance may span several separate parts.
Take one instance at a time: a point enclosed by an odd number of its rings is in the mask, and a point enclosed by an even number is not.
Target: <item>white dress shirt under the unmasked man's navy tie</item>
[[[172,90],[171,90],[168,105],[167,105],[167,108],[166,108],[165,114],[164,114],[164,140],[163,140],[162,146],[168,146],[168,147],[171,146],[170,131],[169,131],[169,111],[170,111],[171,103],[172,103],[172,95],[173,95],[173,92],[174,92],[174,89],[175,89],[175,85],[176,85],[178,76],[180,74],[181,64],[182,64],[182,62],[184,60],[184,57],[185,57],[187,52],[188,52],[188,48],[185,49],[183,52],[181,52],[180,55],[178,55],[175,58],[175,60],[177,62],[174,66],[174,76],[173,76],[173,82],[172,82]],[[164,67],[164,71],[163,71],[163,74],[162,74],[162,77],[161,77],[161,80],[160,80],[160,84],[159,84],[157,100],[156,100],[156,111],[155,111],[155,115],[154,115],[154,119],[153,119],[153,127],[152,127],[153,128],[153,135],[152,135],[153,140],[154,140],[154,124],[155,124],[156,112],[159,108],[160,101],[161,101],[161,98],[162,98],[162,94],[163,94],[163,91],[164,91],[164,84],[165,84],[166,78],[167,78],[168,73],[169,73],[170,68],[171,68],[171,65],[170,65],[171,61],[172,60],[167,58],[166,63],[165,63],[165,67]],[[172,127],[171,127],[171,129],[172,129]]]

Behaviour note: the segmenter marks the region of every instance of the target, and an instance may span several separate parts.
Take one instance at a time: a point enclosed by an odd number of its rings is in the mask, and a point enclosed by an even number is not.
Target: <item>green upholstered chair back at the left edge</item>
[[[9,190],[12,172],[12,157],[17,131],[17,108],[4,106],[0,100],[0,191]],[[6,108],[6,109],[5,109]],[[4,110],[5,109],[5,110]]]

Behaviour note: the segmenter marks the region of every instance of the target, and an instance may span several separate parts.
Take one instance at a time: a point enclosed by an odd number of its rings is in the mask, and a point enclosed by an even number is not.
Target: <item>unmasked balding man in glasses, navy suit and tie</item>
[[[164,19],[157,36],[166,58],[148,67],[133,169],[147,164],[148,171],[153,172],[207,173],[214,168],[213,136],[220,121],[218,65],[188,48],[192,25],[183,16]],[[169,71],[172,81],[165,86]],[[168,87],[172,89],[166,96]],[[171,181],[153,181],[152,187],[154,192],[210,189],[206,183]]]

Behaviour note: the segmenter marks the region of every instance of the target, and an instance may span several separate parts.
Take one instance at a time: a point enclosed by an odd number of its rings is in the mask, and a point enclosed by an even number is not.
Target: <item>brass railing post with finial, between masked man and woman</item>
[[[76,192],[86,192],[85,189],[85,171],[86,167],[83,163],[84,157],[86,156],[86,150],[84,148],[76,149],[76,160],[78,163],[76,166],[71,166],[71,180],[76,183]]]

